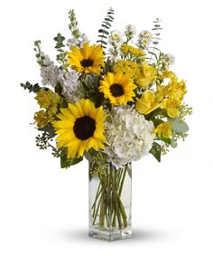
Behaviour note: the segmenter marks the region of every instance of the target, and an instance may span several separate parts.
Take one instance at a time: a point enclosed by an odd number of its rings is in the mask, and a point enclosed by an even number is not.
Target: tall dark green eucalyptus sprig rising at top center
[[[103,48],[106,48],[107,42],[106,39],[109,35],[109,28],[111,27],[111,24],[114,21],[114,10],[110,7],[104,21],[102,22],[101,26],[102,28],[98,30],[98,37],[97,43],[100,43]]]

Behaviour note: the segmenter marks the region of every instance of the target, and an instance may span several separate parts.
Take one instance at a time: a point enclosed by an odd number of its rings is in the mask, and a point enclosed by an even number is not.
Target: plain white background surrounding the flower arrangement
[[[212,8],[203,1],[2,1],[0,39],[1,171],[0,255],[213,255]],[[40,81],[33,41],[53,59],[52,38],[69,38],[68,11],[92,42],[109,6],[114,29],[134,24],[150,30],[162,19],[164,52],[187,80],[194,114],[190,136],[162,158],[134,163],[133,230],[130,240],[88,238],[88,163],[60,170],[58,159],[34,144],[29,125],[38,107],[20,82]]]

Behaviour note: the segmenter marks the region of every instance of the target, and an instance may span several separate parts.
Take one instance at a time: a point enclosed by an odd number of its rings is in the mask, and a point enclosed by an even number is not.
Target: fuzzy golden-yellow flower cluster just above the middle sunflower
[[[132,79],[135,79],[140,75],[139,65],[136,62],[131,61],[117,61],[113,67],[113,71],[122,71]]]

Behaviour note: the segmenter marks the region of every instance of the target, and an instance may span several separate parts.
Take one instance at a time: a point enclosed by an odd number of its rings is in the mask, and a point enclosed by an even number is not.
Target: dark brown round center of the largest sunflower
[[[88,139],[88,137],[92,137],[95,130],[96,122],[94,119],[91,119],[88,116],[76,119],[73,127],[75,136],[81,140],[85,140]]]

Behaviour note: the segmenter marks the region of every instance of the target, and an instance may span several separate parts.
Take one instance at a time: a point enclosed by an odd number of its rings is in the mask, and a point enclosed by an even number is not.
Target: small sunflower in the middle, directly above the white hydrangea
[[[116,74],[108,72],[99,86],[99,90],[113,105],[126,105],[127,101],[133,101],[135,88],[131,78],[122,71]]]

